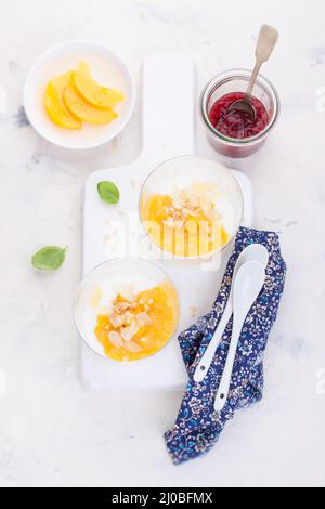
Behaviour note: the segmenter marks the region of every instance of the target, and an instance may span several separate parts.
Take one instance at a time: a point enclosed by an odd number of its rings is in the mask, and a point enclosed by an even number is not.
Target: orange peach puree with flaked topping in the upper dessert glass
[[[160,249],[184,258],[212,253],[229,240],[217,210],[218,190],[207,182],[169,194],[152,194],[141,204],[141,217],[151,239]]]

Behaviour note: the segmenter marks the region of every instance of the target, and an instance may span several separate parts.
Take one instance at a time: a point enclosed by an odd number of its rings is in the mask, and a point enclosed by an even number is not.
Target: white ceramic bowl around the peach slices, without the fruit
[[[94,126],[84,123],[81,130],[55,126],[48,117],[43,94],[47,83],[55,76],[77,67],[86,61],[101,84],[120,90],[126,100],[116,106],[118,118]],[[125,62],[104,44],[87,40],[62,42],[42,54],[30,69],[24,89],[24,105],[35,130],[51,143],[72,149],[94,148],[109,142],[129,121],[135,102],[135,87]]]

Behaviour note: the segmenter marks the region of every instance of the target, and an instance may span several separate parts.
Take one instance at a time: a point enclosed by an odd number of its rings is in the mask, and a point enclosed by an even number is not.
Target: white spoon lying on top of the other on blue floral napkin
[[[247,262],[237,272],[233,295],[233,331],[226,363],[214,401],[216,412],[221,412],[226,403],[242,329],[249,310],[263,288],[264,282],[265,269],[259,262]]]

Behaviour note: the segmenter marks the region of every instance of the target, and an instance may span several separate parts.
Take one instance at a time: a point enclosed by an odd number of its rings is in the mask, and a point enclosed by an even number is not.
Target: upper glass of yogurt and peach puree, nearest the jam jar
[[[180,205],[183,194],[186,207]],[[191,199],[202,204],[196,204],[195,213],[188,211]],[[172,218],[166,217],[167,211]],[[160,258],[167,259],[216,258],[235,238],[243,212],[242,188],[233,173],[217,161],[197,156],[159,165],[145,180],[139,200],[143,229]]]

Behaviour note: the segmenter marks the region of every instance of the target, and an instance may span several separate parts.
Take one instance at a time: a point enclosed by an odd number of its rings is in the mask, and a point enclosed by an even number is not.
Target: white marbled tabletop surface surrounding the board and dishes
[[[264,70],[282,96],[281,121],[262,152],[233,166],[251,178],[257,225],[282,232],[288,263],[265,358],[265,397],[236,416],[208,456],[173,467],[161,435],[181,394],[84,391],[72,318],[82,184],[92,170],[138,155],[139,105],[112,146],[76,158],[25,125],[23,83],[47,48],[90,38],[121,53],[138,79],[151,51],[188,50],[200,87],[219,70],[251,66],[262,22],[282,35]],[[8,99],[0,114],[0,485],[324,485],[324,26],[323,0],[6,3],[0,29],[0,86]],[[219,157],[200,131],[198,153]],[[47,244],[69,246],[65,265],[51,275],[29,264],[30,253]]]

